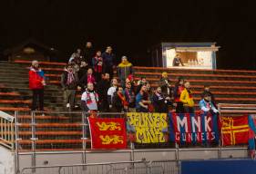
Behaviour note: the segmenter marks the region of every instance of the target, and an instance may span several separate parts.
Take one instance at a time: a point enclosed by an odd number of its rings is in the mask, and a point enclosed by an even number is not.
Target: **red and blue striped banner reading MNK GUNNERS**
[[[179,144],[218,142],[217,114],[169,113],[169,138]]]

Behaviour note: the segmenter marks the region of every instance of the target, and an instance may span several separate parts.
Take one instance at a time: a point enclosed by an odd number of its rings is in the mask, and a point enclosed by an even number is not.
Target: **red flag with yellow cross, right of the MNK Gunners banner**
[[[220,123],[223,145],[248,143],[250,131],[248,116],[220,117]]]

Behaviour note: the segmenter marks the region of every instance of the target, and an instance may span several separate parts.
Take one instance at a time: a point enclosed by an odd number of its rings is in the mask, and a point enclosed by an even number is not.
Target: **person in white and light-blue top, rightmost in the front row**
[[[210,111],[210,113],[218,113],[219,111],[215,108],[211,102],[210,93],[205,93],[203,99],[200,100],[200,110],[204,112]]]

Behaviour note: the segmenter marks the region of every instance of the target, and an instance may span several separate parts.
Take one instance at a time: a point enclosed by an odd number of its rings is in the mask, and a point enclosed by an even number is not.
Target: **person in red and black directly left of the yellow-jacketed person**
[[[176,106],[176,113],[184,113],[184,107],[183,103],[180,102],[180,94],[184,90],[184,79],[179,77],[178,82],[176,82],[174,90],[173,90],[173,97],[174,97],[174,102]]]

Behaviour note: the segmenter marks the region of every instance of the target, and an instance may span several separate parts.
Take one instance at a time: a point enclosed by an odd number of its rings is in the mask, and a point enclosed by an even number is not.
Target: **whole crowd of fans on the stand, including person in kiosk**
[[[77,49],[68,60],[61,75],[65,106],[69,111],[80,107],[93,112],[168,112],[193,113],[195,103],[189,81],[179,78],[175,85],[169,81],[168,73],[162,73],[159,86],[153,90],[146,77],[134,80],[132,63],[122,56],[117,64],[116,56],[108,46],[104,53],[95,50],[92,43],[86,48]],[[175,63],[180,63],[179,55]],[[114,70],[118,78],[114,77]],[[45,76],[37,61],[32,63],[29,72],[30,89],[33,91],[32,110],[44,110]],[[77,105],[76,93],[81,91],[81,104]],[[39,107],[36,102],[39,99]],[[199,103],[201,111],[219,112],[210,86],[205,86]]]

